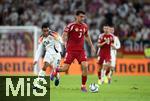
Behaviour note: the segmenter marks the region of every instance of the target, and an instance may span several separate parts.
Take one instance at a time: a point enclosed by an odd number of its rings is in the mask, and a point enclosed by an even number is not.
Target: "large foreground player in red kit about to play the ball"
[[[95,48],[92,44],[91,38],[88,35],[88,26],[83,21],[85,19],[84,11],[76,11],[75,21],[68,24],[63,33],[63,41],[66,47],[66,55],[64,66],[56,69],[51,76],[55,76],[57,72],[68,71],[71,63],[74,59],[77,59],[82,67],[82,85],[81,90],[87,92],[86,81],[87,81],[87,56],[84,50],[84,38],[91,47],[92,53],[95,53]]]

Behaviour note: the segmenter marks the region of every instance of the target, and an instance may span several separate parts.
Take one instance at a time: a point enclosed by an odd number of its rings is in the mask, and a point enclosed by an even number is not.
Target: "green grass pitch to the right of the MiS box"
[[[97,76],[88,76],[90,83],[97,83]],[[150,101],[150,76],[113,76],[111,84],[103,84],[98,93],[80,91],[80,76],[61,76],[60,85],[51,82],[50,101]]]

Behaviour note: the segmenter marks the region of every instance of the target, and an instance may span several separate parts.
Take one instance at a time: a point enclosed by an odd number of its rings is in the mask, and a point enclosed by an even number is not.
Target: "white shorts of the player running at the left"
[[[61,60],[60,53],[51,54],[49,52],[46,52],[43,61],[51,64],[53,68],[57,68],[60,64],[60,60]]]

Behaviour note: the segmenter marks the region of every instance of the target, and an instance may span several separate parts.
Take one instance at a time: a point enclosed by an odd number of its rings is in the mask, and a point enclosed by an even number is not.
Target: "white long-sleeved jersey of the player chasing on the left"
[[[51,32],[47,37],[41,37],[41,42],[39,43],[38,49],[36,51],[34,61],[38,61],[40,59],[44,50],[46,50],[44,60],[46,57],[47,57],[46,60],[48,60],[50,58],[50,55],[58,56],[58,54],[60,55],[60,52],[62,52],[61,37],[59,35],[57,35],[57,37],[56,37],[52,33],[53,32]],[[49,63],[49,61],[47,61],[47,62]]]

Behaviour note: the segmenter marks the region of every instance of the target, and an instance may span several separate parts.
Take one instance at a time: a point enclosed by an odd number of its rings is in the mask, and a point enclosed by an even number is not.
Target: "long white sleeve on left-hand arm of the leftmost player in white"
[[[36,53],[35,53],[34,61],[39,61],[41,55],[43,54],[43,51],[44,51],[43,44],[40,43],[40,44],[38,45],[38,49],[37,49],[37,51],[36,51]]]

